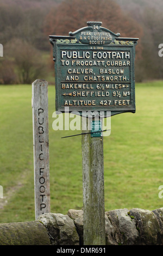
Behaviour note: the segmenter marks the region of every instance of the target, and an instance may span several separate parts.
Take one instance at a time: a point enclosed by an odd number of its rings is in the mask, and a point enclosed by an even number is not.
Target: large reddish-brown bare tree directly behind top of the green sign
[[[45,19],[46,35],[68,35],[86,26],[87,21],[102,21],[102,26],[121,36],[141,38],[141,26],[124,15],[112,0],[66,0],[52,9]],[[136,46],[136,58],[141,59],[141,42]]]

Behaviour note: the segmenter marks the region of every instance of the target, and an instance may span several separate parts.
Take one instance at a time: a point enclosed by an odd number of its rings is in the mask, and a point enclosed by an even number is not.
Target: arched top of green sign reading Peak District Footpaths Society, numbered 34
[[[75,36],[78,42],[87,45],[108,45],[120,36],[120,33],[115,34],[109,29],[101,27],[101,21],[87,21],[87,25],[87,27],[80,28],[75,32],[70,32],[69,35]]]

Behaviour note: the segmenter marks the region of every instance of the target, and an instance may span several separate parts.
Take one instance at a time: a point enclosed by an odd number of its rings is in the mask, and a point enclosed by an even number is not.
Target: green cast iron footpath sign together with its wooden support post
[[[103,118],[108,112],[135,113],[138,39],[120,38],[101,25],[91,21],[69,36],[49,36],[56,111],[66,112],[68,107],[82,115],[84,245],[105,245]]]

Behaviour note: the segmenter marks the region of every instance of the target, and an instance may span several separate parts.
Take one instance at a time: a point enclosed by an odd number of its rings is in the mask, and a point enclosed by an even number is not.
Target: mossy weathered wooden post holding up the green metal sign
[[[83,118],[84,244],[105,245],[103,137],[91,137],[91,120]]]

